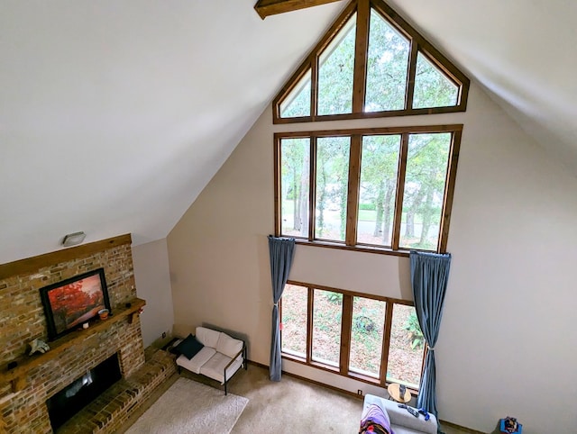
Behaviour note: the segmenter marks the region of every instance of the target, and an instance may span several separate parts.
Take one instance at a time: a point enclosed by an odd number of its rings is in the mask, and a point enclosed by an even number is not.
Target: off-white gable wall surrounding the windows
[[[249,337],[269,364],[270,266],[276,131],[327,122],[253,125],[168,237],[175,321]],[[551,162],[479,86],[466,113],[338,122],[338,128],[464,123],[448,249],[453,254],[436,345],[440,417],[491,431],[507,415],[526,434],[577,432],[577,179]],[[290,278],[411,298],[408,259],[298,246]],[[356,393],[367,384],[306,366],[284,369]],[[379,391],[377,391],[379,392]]]

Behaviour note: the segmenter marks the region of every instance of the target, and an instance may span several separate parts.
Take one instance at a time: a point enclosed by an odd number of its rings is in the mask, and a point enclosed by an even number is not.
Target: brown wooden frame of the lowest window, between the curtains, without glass
[[[281,349],[281,357],[290,360],[292,362],[311,366],[316,369],[323,370],[325,372],[330,372],[335,375],[341,375],[343,377],[352,378],[354,380],[360,381],[366,384],[378,385],[380,387],[387,387],[390,382],[387,381],[387,366],[389,363],[389,343],[390,343],[390,333],[392,330],[392,314],[394,304],[402,304],[408,306],[415,306],[410,300],[403,300],[393,297],[386,297],[376,294],[364,294],[357,293],[350,290],[338,289],[326,285],[312,285],[304,282],[298,282],[295,280],[289,280],[288,285],[297,285],[307,288],[307,356],[298,357],[291,353],[286,353]],[[341,321],[341,342],[340,342],[340,356],[339,356],[339,367],[325,365],[323,363],[317,362],[312,358],[312,348],[313,348],[313,312],[314,312],[314,291],[331,291],[338,294],[343,294],[343,307],[342,307],[342,321]],[[353,297],[368,298],[371,300],[376,300],[380,302],[387,303],[385,312],[385,324],[383,330],[383,343],[381,349],[381,363],[379,378],[374,378],[368,375],[362,375],[355,373],[350,370],[349,367],[349,357],[351,350],[351,332],[353,325]],[[280,312],[282,312],[282,298],[280,299]],[[282,319],[282,314],[280,315]],[[280,336],[282,342],[282,333]],[[282,347],[281,347],[282,348]],[[424,351],[422,366],[421,366],[421,377],[423,375],[423,366],[425,364],[426,349]],[[410,392],[417,394],[418,390],[409,388]]]

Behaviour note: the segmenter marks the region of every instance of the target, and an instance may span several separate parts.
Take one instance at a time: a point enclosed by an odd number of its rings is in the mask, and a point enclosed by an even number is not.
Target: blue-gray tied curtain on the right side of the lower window
[[[410,261],[415,310],[428,348],[417,407],[424,408],[436,416],[435,343],[443,317],[451,255],[411,251]]]

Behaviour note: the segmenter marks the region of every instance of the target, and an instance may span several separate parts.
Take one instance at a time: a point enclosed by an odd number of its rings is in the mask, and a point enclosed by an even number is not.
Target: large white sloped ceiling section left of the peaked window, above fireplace
[[[158,240],[342,9],[0,0],[0,263]]]

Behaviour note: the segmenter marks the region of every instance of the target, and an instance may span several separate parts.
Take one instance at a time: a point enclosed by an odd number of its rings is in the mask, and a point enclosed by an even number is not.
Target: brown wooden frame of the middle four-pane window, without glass
[[[407,167],[408,154],[408,135],[417,133],[452,133],[449,159],[447,161],[447,170],[444,184],[444,203],[443,213],[441,215],[439,237],[437,240],[437,253],[446,252],[447,240],[449,235],[449,225],[451,221],[451,212],[453,208],[454,184],[457,172],[457,163],[461,138],[463,133],[463,124],[447,125],[419,125],[407,127],[387,127],[387,128],[365,128],[365,129],[343,129],[327,131],[298,131],[298,132],[277,132],[274,134],[274,159],[275,159],[275,185],[274,185],[274,208],[275,208],[275,235],[281,236],[281,197],[280,197],[280,164],[281,164],[281,141],[283,139],[310,139],[310,176],[309,176],[309,209],[308,209],[308,234],[307,238],[293,236],[299,244],[306,244],[316,247],[325,247],[329,249],[348,249],[371,253],[380,253],[394,256],[408,256],[410,249],[399,247],[400,240],[400,222],[402,214],[402,203],[404,194],[404,180]],[[391,247],[380,247],[377,245],[355,243],[356,240],[356,213],[358,205],[359,185],[361,178],[361,148],[362,137],[371,135],[400,134],[401,147],[398,159],[398,184],[395,195],[395,216],[393,220]],[[351,137],[351,152],[349,154],[349,184],[347,190],[347,216],[346,216],[346,234],[344,241],[319,240],[315,235],[315,210],[316,210],[316,140],[323,137]],[[432,251],[432,250],[426,250]]]

